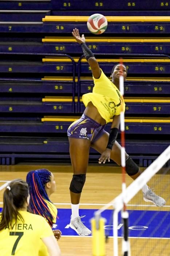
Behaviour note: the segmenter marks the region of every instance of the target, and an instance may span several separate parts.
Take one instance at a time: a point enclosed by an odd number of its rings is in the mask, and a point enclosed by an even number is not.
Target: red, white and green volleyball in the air
[[[102,14],[93,14],[87,20],[87,28],[92,34],[102,34],[107,29],[107,19]]]

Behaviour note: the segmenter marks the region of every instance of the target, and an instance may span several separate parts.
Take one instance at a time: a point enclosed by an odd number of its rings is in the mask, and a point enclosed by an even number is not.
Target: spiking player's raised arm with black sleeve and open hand
[[[86,58],[86,60],[88,61],[88,64],[91,67],[92,74],[93,74],[94,78],[98,79],[101,75],[101,70],[100,70],[100,67],[99,67],[99,64],[98,64],[96,58],[94,57],[94,54],[86,45],[86,39],[85,39],[84,35],[82,35],[82,37],[80,37],[79,30],[76,28],[73,29],[72,35],[74,36],[76,41],[82,46],[84,57]]]

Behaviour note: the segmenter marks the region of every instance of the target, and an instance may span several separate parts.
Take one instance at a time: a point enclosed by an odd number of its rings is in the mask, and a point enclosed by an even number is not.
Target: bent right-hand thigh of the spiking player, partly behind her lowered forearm
[[[91,144],[91,147],[98,151],[100,154],[102,154],[107,147],[108,137],[109,133],[105,132],[98,140]],[[127,157],[128,154],[126,153],[126,158]],[[121,146],[117,141],[115,141],[112,147],[110,158],[118,165],[121,164]]]

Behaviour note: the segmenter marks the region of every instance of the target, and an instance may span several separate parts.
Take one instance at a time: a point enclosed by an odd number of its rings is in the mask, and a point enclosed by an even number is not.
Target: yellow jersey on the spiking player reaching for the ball
[[[110,118],[118,116],[120,112],[125,111],[125,103],[118,88],[104,75],[102,69],[100,78],[94,80],[92,93],[86,93],[82,96],[85,106],[91,101],[106,120],[106,124],[110,122]]]

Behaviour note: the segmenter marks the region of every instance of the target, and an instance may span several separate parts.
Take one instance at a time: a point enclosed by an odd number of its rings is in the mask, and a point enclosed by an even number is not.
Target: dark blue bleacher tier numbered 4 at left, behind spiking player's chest
[[[77,80],[77,78],[76,78]],[[91,77],[80,79],[79,90],[81,94],[92,92],[94,83]],[[76,82],[75,92],[78,90],[78,82]],[[124,95],[168,95],[170,91],[170,80],[153,78],[148,80],[130,78],[124,83]],[[72,78],[61,78],[55,76],[50,78],[0,78],[0,93],[55,93],[57,94],[71,94],[74,90],[74,83]]]

